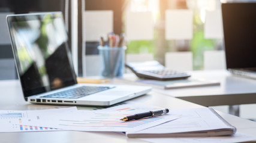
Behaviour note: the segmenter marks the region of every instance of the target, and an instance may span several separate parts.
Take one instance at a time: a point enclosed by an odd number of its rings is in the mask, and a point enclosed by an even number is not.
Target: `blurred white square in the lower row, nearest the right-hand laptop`
[[[225,52],[204,51],[204,70],[224,70],[226,69]]]

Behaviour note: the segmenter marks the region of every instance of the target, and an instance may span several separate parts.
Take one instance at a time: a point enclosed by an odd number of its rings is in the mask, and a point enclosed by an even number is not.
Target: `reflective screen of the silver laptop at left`
[[[61,13],[7,17],[25,99],[77,83]]]

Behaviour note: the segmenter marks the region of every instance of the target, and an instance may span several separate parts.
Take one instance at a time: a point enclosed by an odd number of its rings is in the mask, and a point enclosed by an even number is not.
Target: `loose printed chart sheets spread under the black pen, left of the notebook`
[[[105,132],[134,132],[177,119],[179,115],[164,116],[123,122],[120,119],[130,114],[153,110],[135,104],[118,105],[103,110],[77,110],[76,107],[52,110],[1,111],[0,132],[43,130],[81,130]]]

